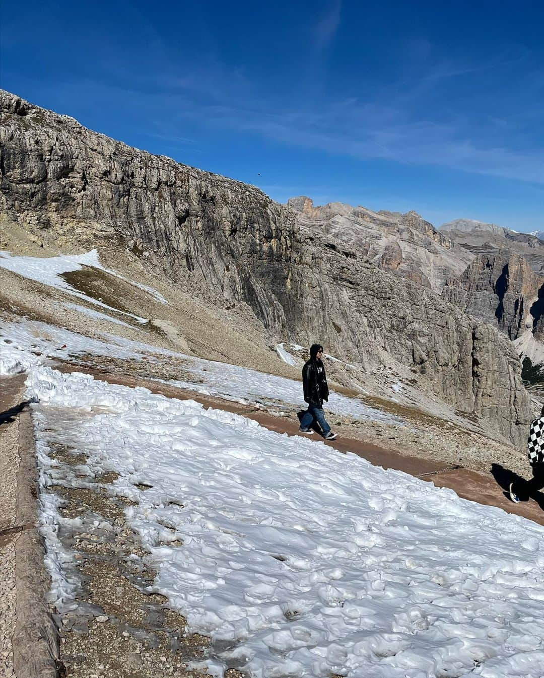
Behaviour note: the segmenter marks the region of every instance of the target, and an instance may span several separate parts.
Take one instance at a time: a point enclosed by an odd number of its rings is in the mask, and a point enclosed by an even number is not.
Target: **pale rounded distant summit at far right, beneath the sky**
[[[442,224],[439,231],[476,256],[504,252],[521,254],[535,273],[544,275],[544,241],[537,233],[517,233],[504,226],[473,219],[455,219]]]

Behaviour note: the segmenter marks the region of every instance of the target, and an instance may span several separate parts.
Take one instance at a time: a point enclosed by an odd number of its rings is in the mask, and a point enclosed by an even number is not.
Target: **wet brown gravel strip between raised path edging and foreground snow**
[[[62,500],[63,517],[81,519],[81,525],[64,524],[58,532],[63,546],[75,553],[69,576],[79,582],[75,604],[57,616],[64,675],[206,678],[187,664],[210,652],[208,638],[187,633],[168,599],[146,591],[156,573],[125,523],[123,511],[131,502],[115,494],[117,473],[89,475],[85,456],[60,442],[66,428],[77,426],[77,413],[45,413],[58,482],[47,491]],[[237,677],[238,671],[227,672],[226,678]]]

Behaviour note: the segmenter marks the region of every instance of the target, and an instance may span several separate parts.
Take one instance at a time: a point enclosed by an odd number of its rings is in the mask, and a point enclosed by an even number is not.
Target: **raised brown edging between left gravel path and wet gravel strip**
[[[45,543],[39,532],[39,483],[32,415],[19,415],[16,541],[16,625],[12,637],[17,678],[58,678],[60,637],[46,595],[51,578],[45,569]]]

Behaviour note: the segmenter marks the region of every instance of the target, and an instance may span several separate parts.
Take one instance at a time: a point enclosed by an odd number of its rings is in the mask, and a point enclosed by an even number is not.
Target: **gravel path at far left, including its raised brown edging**
[[[1,675],[56,678],[58,629],[38,530],[36,452],[24,376],[0,379]]]

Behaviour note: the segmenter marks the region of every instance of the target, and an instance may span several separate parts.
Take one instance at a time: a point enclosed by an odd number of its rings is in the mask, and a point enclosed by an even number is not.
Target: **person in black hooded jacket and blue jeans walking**
[[[330,430],[323,411],[323,401],[329,399],[329,387],[322,355],[323,346],[321,344],[310,346],[310,359],[303,367],[304,399],[308,403],[308,409],[300,420],[298,433],[311,435],[313,430],[310,427],[317,421],[324,439],[336,440],[336,433],[332,433]]]

